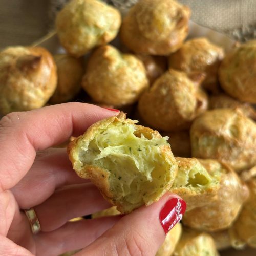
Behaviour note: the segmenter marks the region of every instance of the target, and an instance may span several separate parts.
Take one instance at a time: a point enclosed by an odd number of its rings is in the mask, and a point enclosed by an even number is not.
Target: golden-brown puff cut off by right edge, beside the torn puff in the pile
[[[251,179],[246,184],[250,196],[234,223],[233,229],[241,240],[256,248],[256,178]]]

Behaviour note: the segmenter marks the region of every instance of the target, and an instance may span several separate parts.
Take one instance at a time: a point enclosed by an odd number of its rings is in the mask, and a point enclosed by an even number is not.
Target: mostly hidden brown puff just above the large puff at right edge
[[[209,109],[226,109],[226,108],[238,108],[245,115],[252,119],[256,119],[256,111],[249,103],[241,102],[233,99],[230,96],[222,93],[218,95],[212,95],[209,97]]]

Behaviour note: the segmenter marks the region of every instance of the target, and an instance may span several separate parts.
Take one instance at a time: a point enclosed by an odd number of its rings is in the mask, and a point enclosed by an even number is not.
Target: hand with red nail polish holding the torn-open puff
[[[174,194],[126,216],[69,222],[110,205],[91,182],[75,174],[65,148],[50,147],[117,114],[95,105],[65,103],[0,120],[1,255],[59,255],[81,248],[77,255],[156,254],[174,224],[172,218],[166,223],[166,212],[169,216],[177,207],[174,202],[182,202],[178,207],[185,211],[185,202]],[[41,225],[35,235],[22,210],[31,207]]]

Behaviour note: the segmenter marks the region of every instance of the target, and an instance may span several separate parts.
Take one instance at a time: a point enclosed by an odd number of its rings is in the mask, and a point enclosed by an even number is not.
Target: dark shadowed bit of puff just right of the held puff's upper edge
[[[168,142],[172,147],[172,152],[176,157],[191,157],[191,146],[189,131],[162,132],[163,136],[168,136]]]

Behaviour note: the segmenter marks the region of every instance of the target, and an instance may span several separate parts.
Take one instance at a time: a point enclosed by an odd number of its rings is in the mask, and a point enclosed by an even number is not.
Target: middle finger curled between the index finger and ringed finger
[[[31,169],[11,191],[19,207],[27,209],[44,202],[58,187],[86,182],[72,169],[66,148],[49,148],[37,152]]]

